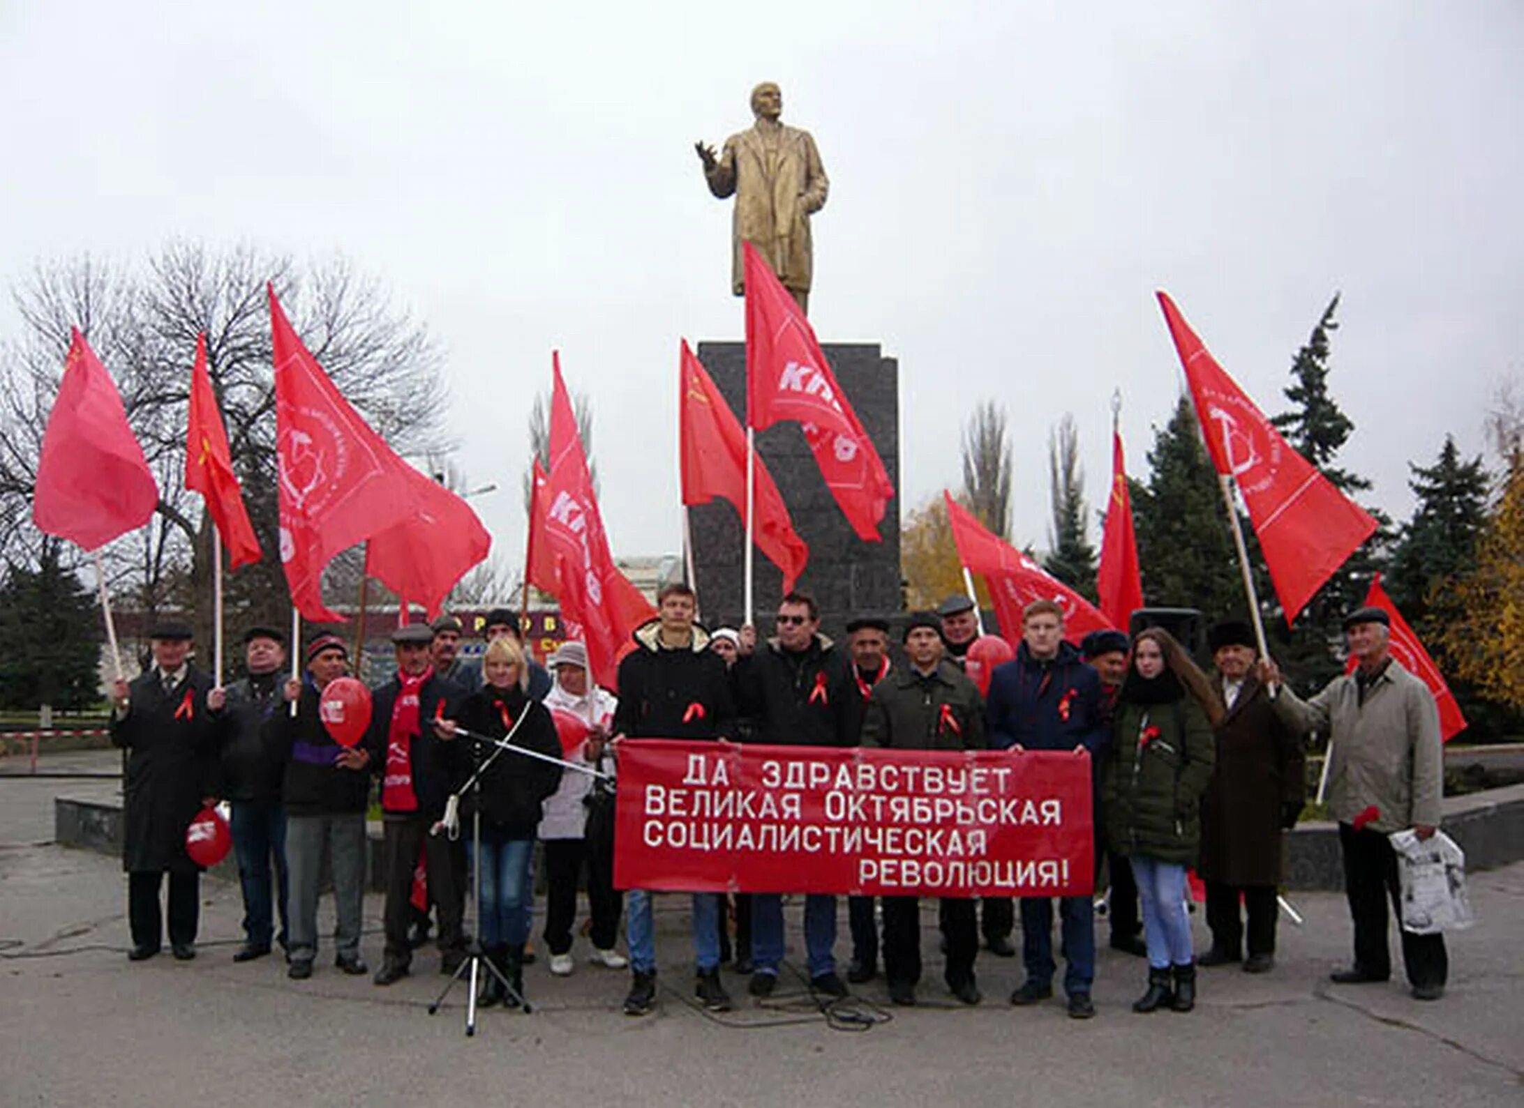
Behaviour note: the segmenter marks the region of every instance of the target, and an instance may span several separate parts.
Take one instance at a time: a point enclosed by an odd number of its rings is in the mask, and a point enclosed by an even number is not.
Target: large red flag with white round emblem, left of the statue
[[[276,370],[276,463],[280,562],[291,603],[306,619],[341,622],[323,604],[334,556],[401,522],[413,505],[396,495],[392,447],[360,419],[302,345],[270,294]]]

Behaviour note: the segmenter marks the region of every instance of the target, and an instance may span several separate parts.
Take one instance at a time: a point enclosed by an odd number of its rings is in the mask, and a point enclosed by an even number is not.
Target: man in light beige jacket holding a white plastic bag
[[[1338,985],[1391,977],[1387,899],[1401,916],[1398,858],[1387,836],[1413,828],[1419,839],[1439,829],[1443,755],[1439,709],[1422,680],[1391,656],[1391,616],[1361,607],[1344,616],[1356,667],[1303,702],[1280,683],[1271,659],[1259,664],[1263,685],[1279,685],[1276,712],[1300,732],[1329,737],[1329,816],[1338,820],[1344,895],[1355,924],[1355,965],[1338,970]],[[1417,1000],[1445,994],[1449,960],[1443,934],[1402,931],[1402,962]]]

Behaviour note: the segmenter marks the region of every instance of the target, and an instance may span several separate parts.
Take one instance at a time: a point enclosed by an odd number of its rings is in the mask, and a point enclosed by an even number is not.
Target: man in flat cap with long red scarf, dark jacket
[[[398,673],[372,689],[366,747],[372,772],[381,773],[386,840],[386,957],[376,971],[376,985],[405,977],[413,960],[407,942],[408,906],[421,854],[428,895],[439,907],[439,971],[454,973],[465,957],[463,889],[451,861],[450,840],[428,833],[443,816],[451,775],[433,723],[453,717],[462,700],[459,686],[436,676],[428,664],[433,639],[427,624],[392,632]]]

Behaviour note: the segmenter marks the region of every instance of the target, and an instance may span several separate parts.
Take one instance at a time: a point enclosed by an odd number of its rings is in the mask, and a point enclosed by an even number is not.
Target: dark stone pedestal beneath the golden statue
[[[896,489],[879,524],[881,542],[863,542],[847,524],[797,423],[757,435],[757,457],[783,495],[794,530],[809,543],[809,565],[797,587],[820,604],[821,630],[841,636],[847,619],[892,616],[902,607],[899,577],[899,362],[869,342],[829,344],[826,361],[841,393],[884,460]],[[747,352],[744,342],[700,342],[698,359],[745,425]],[[698,603],[707,627],[742,622],[744,543],[741,513],[724,501],[692,510]],[[757,630],[771,635],[783,575],[765,554],[753,563]]]

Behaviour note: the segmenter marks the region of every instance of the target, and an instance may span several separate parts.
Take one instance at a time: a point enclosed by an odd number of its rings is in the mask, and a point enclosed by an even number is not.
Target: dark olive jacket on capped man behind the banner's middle
[[[873,686],[863,746],[892,750],[983,750],[985,702],[952,662],[927,676],[908,662]]]

